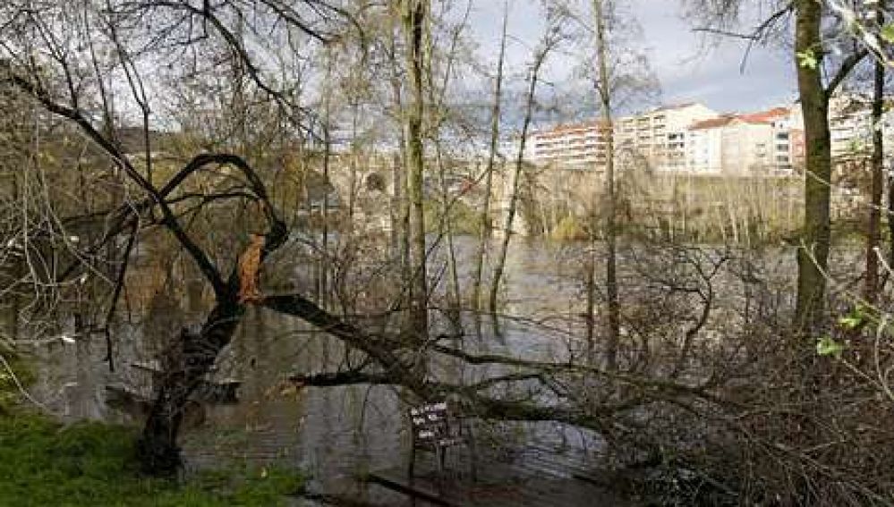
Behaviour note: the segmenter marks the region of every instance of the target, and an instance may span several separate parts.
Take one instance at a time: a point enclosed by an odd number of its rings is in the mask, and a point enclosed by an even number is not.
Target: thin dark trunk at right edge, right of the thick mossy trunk
[[[876,7],[876,18],[884,20],[884,0]],[[866,285],[864,298],[874,302],[879,296],[879,249],[881,246],[881,192],[884,173],[884,136],[881,131],[881,113],[884,105],[885,66],[876,61],[873,76],[873,158],[872,183],[869,199],[869,220],[866,224]],[[889,219],[890,222],[890,219]]]

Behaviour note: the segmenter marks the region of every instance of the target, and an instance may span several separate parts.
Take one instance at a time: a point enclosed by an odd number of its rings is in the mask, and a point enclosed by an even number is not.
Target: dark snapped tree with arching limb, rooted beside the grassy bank
[[[274,84],[268,70],[252,55],[257,51],[277,46],[282,41],[310,44],[311,40],[325,40],[334,32],[330,26],[344,23],[345,12],[328,5],[314,3],[306,11],[298,5],[294,9],[263,2],[251,5],[257,15],[255,21],[267,24],[277,21],[280,30],[270,39],[243,37],[248,17],[242,6],[212,6],[208,3],[154,1],[142,4],[108,3],[83,4],[77,9],[62,2],[8,2],[0,7],[2,68],[0,82],[4,89],[16,93],[41,107],[46,114],[70,123],[89,139],[91,149],[111,162],[105,169],[110,174],[121,174],[126,191],[115,194],[115,202],[98,213],[81,210],[66,211],[67,215],[53,226],[50,233],[57,237],[71,236],[71,227],[89,218],[104,223],[101,230],[81,236],[72,247],[68,266],[49,273],[55,286],[65,288],[72,280],[86,279],[96,272],[92,258],[122,238],[127,248],[121,258],[108,259],[115,266],[115,276],[106,284],[109,296],[98,298],[98,308],[107,308],[114,315],[116,300],[131,268],[132,244],[138,235],[165,231],[177,246],[192,259],[200,275],[209,284],[215,304],[210,309],[198,333],[184,331],[170,337],[172,360],[167,364],[163,381],[158,385],[149,418],[140,440],[140,454],[145,467],[153,472],[170,472],[179,464],[177,435],[183,419],[183,408],[202,376],[208,373],[217,354],[226,347],[241,321],[245,305],[259,299],[257,294],[241,297],[245,277],[240,277],[236,252],[228,252],[229,259],[221,258],[214,244],[219,234],[202,234],[196,230],[196,218],[214,214],[221,206],[237,207],[240,202],[254,202],[260,221],[248,232],[258,233],[256,244],[260,251],[252,252],[255,264],[263,262],[286,240],[286,224],[268,195],[266,184],[258,170],[245,156],[226,152],[200,153],[190,156],[180,167],[167,165],[163,172],[153,158],[152,118],[159,118],[165,93],[153,93],[144,84],[158,60],[185,54],[192,63],[171,65],[167,75],[158,70],[155,80],[190,82],[217,72],[218,55],[226,55],[228,62],[242,69],[251,89],[294,118],[297,107],[291,102],[287,84]],[[151,17],[146,25],[140,19]],[[339,21],[340,20],[340,21]],[[174,42],[175,44],[171,44]],[[189,59],[188,59],[189,60]],[[188,61],[187,60],[187,61]],[[115,87],[125,86],[130,93],[124,100],[118,93],[116,108],[112,106],[112,89],[106,79],[115,79]],[[234,91],[225,88],[225,91]],[[244,89],[235,89],[243,93]],[[125,97],[127,97],[125,95]],[[127,106],[141,111],[140,144],[143,158],[125,152],[121,133]],[[35,116],[40,122],[46,114]],[[118,116],[118,115],[121,116]],[[159,118],[160,119],[160,118]],[[243,121],[246,120],[243,118]],[[103,171],[101,166],[79,164],[81,174]],[[233,174],[232,185],[210,190],[197,180],[217,177],[225,181]],[[238,176],[236,176],[238,174]],[[223,179],[221,179],[223,177]],[[48,206],[55,206],[48,203]],[[233,208],[231,208],[233,209]],[[22,238],[30,241],[28,249],[45,247],[35,242],[26,226]],[[243,232],[244,234],[244,232]],[[73,236],[72,236],[73,237]],[[228,240],[232,241],[232,239]],[[251,250],[251,247],[249,247]],[[117,250],[115,250],[117,251]],[[118,255],[118,254],[116,254]],[[227,267],[229,264],[229,267]],[[242,263],[243,266],[251,263]],[[252,266],[249,271],[256,271]],[[243,273],[244,275],[244,273]],[[251,278],[253,275],[249,275]],[[243,288],[245,289],[245,288]],[[242,291],[242,296],[247,292]],[[110,356],[111,357],[111,356]]]

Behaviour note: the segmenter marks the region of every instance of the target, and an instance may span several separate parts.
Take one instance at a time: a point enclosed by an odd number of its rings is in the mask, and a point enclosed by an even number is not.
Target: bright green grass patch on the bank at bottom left
[[[140,475],[129,427],[17,414],[0,418],[0,505],[127,507],[281,505],[301,491],[285,469],[230,466],[184,483]]]

